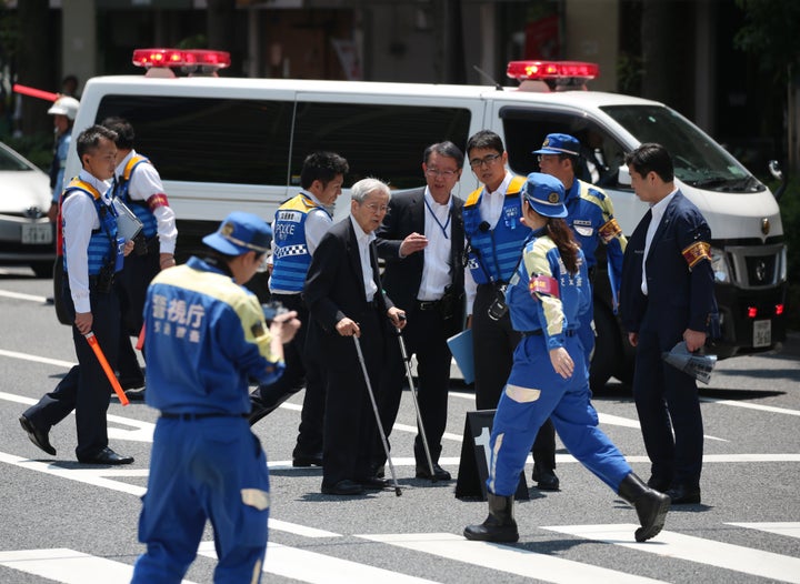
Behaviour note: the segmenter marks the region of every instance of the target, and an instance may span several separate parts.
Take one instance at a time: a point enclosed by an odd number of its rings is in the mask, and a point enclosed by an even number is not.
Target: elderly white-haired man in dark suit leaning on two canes
[[[358,495],[384,486],[371,467],[377,424],[351,338],[360,343],[377,391],[389,320],[396,328],[404,326],[403,312],[383,292],[373,243],[389,208],[389,187],[364,179],[352,185],[351,197],[350,217],[320,240],[303,292],[311,315],[307,354],[326,370],[322,493],[329,495]]]

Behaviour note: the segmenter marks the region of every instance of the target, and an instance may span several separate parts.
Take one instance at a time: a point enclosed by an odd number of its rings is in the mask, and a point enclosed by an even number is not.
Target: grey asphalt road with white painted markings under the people
[[[74,362],[69,329],[44,303],[50,282],[0,269],[0,583],[128,582],[142,545],[139,496],[147,484],[156,412],[109,409],[111,446],[128,467],[74,460],[74,420],[51,432],[58,455],[36,449],[17,421]],[[783,352],[719,363],[701,389],[706,462],[701,505],[676,507],[652,542],[633,541],[634,511],[562,447],[561,491],[531,490],[517,505],[520,542],[467,542],[486,503],[456,499],[452,483],[413,477],[410,395],[392,433],[401,496],[392,490],[344,499],[320,493],[321,472],[293,469],[302,394],[254,426],[272,482],[271,583],[800,582],[800,336]],[[459,470],[469,386],[453,384],[442,465]],[[629,391],[596,396],[602,429],[646,477],[649,465]],[[526,474],[530,483],[530,464]],[[212,582],[207,530],[188,582]]]

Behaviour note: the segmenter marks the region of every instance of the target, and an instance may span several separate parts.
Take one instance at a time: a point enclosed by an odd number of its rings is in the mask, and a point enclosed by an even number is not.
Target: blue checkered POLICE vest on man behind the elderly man
[[[302,292],[311,265],[311,253],[306,242],[306,220],[317,209],[330,217],[323,207],[303,193],[278,208],[272,225],[274,253],[270,290]]]

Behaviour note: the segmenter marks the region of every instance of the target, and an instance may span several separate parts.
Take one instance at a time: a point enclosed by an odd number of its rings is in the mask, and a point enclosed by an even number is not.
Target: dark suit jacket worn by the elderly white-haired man
[[[394,304],[383,292],[374,245],[371,249],[372,273],[378,285],[374,300],[381,324],[388,326],[390,321],[386,314]],[[331,226],[320,240],[306,276],[303,298],[311,316],[307,348],[322,362],[340,364],[354,349],[352,339],[337,332],[337,323],[344,316],[361,322],[368,311],[376,310],[367,303],[361,256],[349,217]]]

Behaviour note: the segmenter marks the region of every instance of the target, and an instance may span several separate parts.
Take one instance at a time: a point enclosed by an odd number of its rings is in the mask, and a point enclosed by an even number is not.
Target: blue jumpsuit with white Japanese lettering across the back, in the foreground
[[[179,583],[209,518],[216,583],[258,582],[267,546],[267,459],[250,432],[249,377],[282,362],[256,296],[198,258],[160,272],[148,290],[147,403],[161,411],[139,518],[147,552],[133,583]],[[256,580],[253,580],[256,577]]]

